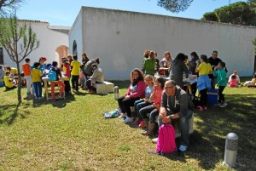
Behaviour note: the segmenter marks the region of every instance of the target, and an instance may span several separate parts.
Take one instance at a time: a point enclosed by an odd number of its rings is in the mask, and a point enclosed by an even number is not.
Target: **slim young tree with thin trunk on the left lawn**
[[[26,23],[19,23],[16,16],[0,18],[0,21],[0,45],[5,48],[9,58],[15,61],[19,76],[18,83],[21,84],[20,62],[39,47],[39,41],[32,27],[27,26]],[[21,102],[20,86],[17,89],[18,100]]]

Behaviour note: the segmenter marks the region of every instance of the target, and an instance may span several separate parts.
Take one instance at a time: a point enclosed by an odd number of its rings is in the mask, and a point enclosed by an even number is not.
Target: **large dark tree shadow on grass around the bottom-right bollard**
[[[232,94],[225,96],[228,105],[224,108],[210,106],[198,114],[198,131],[191,137],[187,155],[197,158],[204,169],[215,168],[224,161],[225,136],[235,133],[239,137],[239,170],[256,170],[256,105],[255,95]]]

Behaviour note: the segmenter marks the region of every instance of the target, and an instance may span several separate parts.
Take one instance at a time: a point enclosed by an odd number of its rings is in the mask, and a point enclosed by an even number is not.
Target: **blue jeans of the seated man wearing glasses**
[[[174,122],[179,123],[178,124],[179,125],[179,130],[181,132],[180,145],[189,146],[189,119],[192,117],[192,115],[193,115],[193,111],[189,110],[186,115],[183,115],[183,117],[180,117],[178,119],[174,119]],[[162,124],[163,124],[162,119],[159,117],[159,120],[158,120],[159,128],[161,127]]]

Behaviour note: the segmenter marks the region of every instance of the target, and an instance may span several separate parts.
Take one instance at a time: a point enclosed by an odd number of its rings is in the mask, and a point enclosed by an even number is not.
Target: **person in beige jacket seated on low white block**
[[[90,79],[86,81],[86,84],[87,84],[89,93],[96,93],[96,88],[93,87],[93,85],[95,83],[103,83],[104,77],[103,77],[102,69],[99,68],[96,63],[92,64],[91,67],[92,67],[93,73]]]

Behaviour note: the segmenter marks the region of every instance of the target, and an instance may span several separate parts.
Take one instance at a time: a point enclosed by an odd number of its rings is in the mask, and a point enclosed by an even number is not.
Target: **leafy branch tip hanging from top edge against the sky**
[[[188,9],[192,2],[193,0],[158,0],[157,5],[172,13],[179,13]]]

